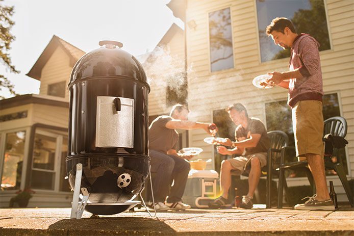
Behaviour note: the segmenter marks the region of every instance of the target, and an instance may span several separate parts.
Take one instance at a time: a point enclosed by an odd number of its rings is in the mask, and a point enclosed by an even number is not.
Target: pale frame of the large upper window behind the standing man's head
[[[323,50],[323,51],[319,51],[319,53],[321,54],[324,51],[333,51],[334,47],[333,47],[333,40],[332,40],[332,33],[331,33],[331,25],[330,25],[330,19],[329,19],[329,15],[328,15],[328,9],[327,9],[327,0],[323,0],[323,5],[324,5],[324,12],[326,14],[326,23],[327,23],[327,30],[328,30],[328,39],[330,40],[330,49],[327,50]],[[274,59],[274,60],[269,60],[269,61],[265,61],[262,62],[262,57],[261,57],[261,43],[259,40],[259,27],[258,27],[258,10],[257,10],[257,0],[254,0],[254,9],[255,9],[255,17],[256,17],[256,35],[257,35],[257,46],[258,46],[258,61],[259,64],[265,64],[265,63],[273,63],[273,62],[278,62],[280,60],[287,60],[289,61],[290,57],[286,57],[286,58],[279,58],[279,59]],[[270,23],[270,22],[269,22]]]

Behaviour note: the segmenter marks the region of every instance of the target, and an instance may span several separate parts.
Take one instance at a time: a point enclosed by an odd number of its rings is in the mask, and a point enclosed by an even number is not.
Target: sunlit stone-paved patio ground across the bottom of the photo
[[[70,219],[70,208],[2,208],[0,235],[354,235],[354,208],[188,209],[150,217],[143,208]]]

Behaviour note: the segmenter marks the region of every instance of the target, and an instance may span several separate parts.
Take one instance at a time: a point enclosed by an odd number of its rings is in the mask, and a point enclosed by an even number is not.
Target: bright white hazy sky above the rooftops
[[[28,77],[42,51],[56,35],[86,53],[99,47],[100,40],[123,43],[134,56],[151,51],[174,22],[183,29],[166,6],[170,0],[5,0],[0,4],[15,6],[11,33],[12,64],[20,74],[5,74],[19,94],[39,93],[39,81]],[[7,89],[0,93],[11,97]]]

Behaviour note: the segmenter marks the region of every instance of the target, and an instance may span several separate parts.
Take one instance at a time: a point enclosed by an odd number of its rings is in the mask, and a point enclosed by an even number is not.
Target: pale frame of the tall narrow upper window
[[[208,70],[209,70],[209,74],[214,74],[214,73],[219,73],[219,72],[225,72],[225,71],[229,71],[229,70],[234,70],[236,67],[236,60],[235,60],[235,45],[234,45],[234,25],[233,25],[233,16],[232,16],[232,5],[225,5],[222,7],[218,7],[218,8],[214,8],[210,11],[207,11],[206,15],[207,15],[207,40],[208,40]],[[232,39],[232,55],[233,55],[233,64],[234,66],[232,68],[228,68],[228,69],[223,69],[223,70],[216,70],[216,71],[211,71],[211,47],[210,47],[210,25],[209,25],[209,13],[211,12],[215,12],[215,11],[220,11],[223,9],[229,8],[230,9],[230,20],[231,20],[231,39]]]

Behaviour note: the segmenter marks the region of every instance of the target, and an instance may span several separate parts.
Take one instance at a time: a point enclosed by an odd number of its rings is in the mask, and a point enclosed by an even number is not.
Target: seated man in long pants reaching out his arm
[[[157,211],[167,211],[169,208],[190,208],[190,205],[181,201],[181,198],[190,170],[190,164],[186,160],[190,160],[193,155],[186,156],[176,151],[179,134],[175,129],[201,128],[208,134],[212,134],[209,128],[212,124],[189,121],[188,113],[185,106],[176,104],[170,116],[159,116],[149,127],[150,165],[151,171],[156,172],[153,192]],[[171,187],[172,180],[174,184]]]

